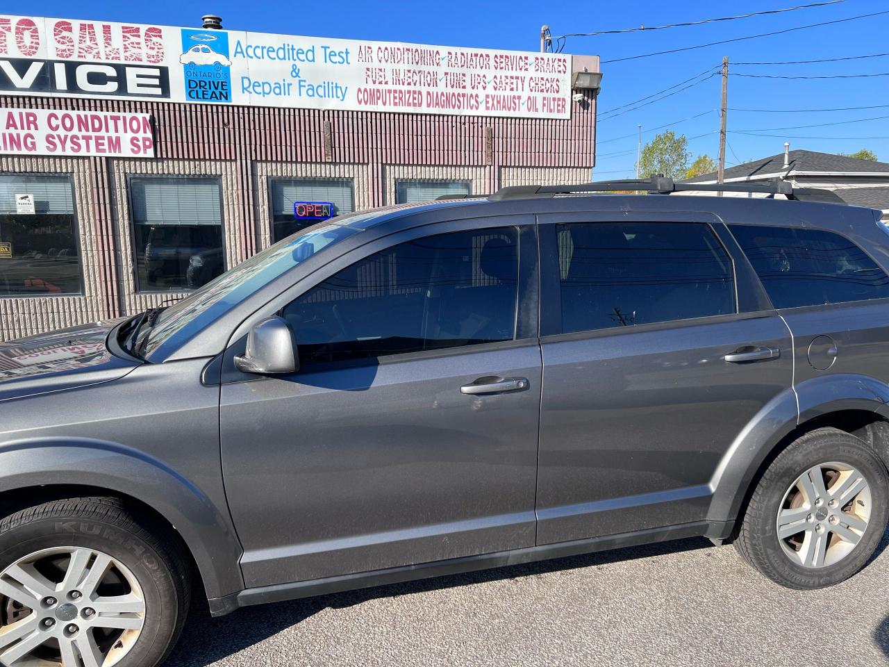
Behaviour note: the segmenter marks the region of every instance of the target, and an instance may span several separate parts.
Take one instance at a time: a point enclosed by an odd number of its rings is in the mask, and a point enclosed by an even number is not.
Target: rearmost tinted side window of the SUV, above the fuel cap
[[[775,308],[889,297],[889,278],[848,238],[820,229],[731,225]]]

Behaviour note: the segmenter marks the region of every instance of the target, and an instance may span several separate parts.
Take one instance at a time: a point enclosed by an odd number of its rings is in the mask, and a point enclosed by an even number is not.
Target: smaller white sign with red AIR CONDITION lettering
[[[155,157],[155,138],[148,114],[0,108],[2,154]]]

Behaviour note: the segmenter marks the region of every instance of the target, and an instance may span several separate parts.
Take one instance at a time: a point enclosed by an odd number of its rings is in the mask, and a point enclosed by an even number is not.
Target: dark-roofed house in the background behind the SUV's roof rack
[[[813,150],[790,150],[772,157],[729,167],[725,170],[726,183],[755,183],[780,178],[794,188],[822,188],[836,192],[847,204],[869,206],[883,211],[889,221],[889,164],[845,157]],[[716,183],[717,174],[705,173],[685,183]],[[712,194],[712,193],[693,193]],[[765,197],[750,193],[726,193],[736,197]]]

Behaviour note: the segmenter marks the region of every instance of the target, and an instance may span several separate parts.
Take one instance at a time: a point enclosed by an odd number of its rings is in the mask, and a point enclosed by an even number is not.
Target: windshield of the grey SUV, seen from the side
[[[223,273],[185,299],[177,301],[157,317],[154,325],[142,327],[134,345],[144,358],[164,355],[179,348],[213,321],[248,299],[264,285],[306,261],[327,245],[364,229],[356,223],[379,213],[345,215],[324,221],[284,238]]]

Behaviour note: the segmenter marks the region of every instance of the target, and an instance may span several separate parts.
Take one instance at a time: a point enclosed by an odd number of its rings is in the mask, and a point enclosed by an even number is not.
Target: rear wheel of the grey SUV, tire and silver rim
[[[815,486],[816,471],[823,487]],[[861,479],[866,488],[856,492]],[[889,473],[882,460],[845,431],[818,429],[797,438],[765,470],[734,545],[775,583],[824,588],[867,565],[887,520]]]

